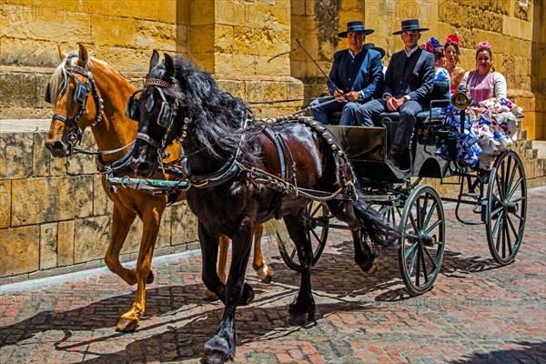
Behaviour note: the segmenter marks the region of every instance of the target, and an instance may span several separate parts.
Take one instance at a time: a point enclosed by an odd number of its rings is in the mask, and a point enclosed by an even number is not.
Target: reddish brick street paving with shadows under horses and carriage
[[[317,319],[288,325],[298,274],[264,240],[271,285],[248,280],[254,302],[238,308],[241,363],[546,363],[546,187],[529,191],[516,261],[490,258],[483,226],[456,222],[446,205],[447,248],[436,287],[411,298],[396,252],[368,277],[347,232],[331,231],[313,270]],[[198,251],[154,260],[147,313],[133,334],[115,331],[134,288],[106,268],[0,288],[1,363],[197,363],[223,306],[201,299]]]

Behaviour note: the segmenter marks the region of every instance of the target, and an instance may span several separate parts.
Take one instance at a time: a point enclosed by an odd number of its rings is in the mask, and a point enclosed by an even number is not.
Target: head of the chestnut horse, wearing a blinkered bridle
[[[54,106],[45,147],[54,157],[68,157],[81,141],[86,127],[101,121],[103,100],[96,91],[86,47],[79,45],[78,55],[68,56],[59,47],[59,56],[63,62],[45,90],[45,101]]]

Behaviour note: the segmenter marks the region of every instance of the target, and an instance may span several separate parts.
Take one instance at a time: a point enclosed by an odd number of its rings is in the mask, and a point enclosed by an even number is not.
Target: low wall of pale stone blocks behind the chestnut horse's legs
[[[104,265],[113,203],[93,157],[50,156],[45,123],[34,132],[0,126],[0,285]],[[93,143],[87,131],[82,145]],[[123,261],[136,259],[141,234],[136,219]],[[190,248],[198,248],[197,218],[185,202],[167,207],[155,255]]]

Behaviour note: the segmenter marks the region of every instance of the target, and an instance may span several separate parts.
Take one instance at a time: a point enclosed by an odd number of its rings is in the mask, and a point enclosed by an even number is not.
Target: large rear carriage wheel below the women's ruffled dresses
[[[485,216],[491,256],[502,266],[516,258],[527,213],[525,170],[517,153],[507,150],[490,170]]]

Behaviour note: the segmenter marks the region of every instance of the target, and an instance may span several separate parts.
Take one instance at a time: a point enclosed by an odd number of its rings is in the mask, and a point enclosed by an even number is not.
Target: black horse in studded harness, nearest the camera
[[[132,166],[150,176],[175,138],[184,148],[187,203],[199,219],[203,281],[226,305],[216,336],[205,345],[204,362],[225,362],[235,357],[235,310],[254,298],[244,278],[258,223],[282,217],[298,249],[301,283],[289,307],[289,321],[298,325],[315,315],[312,247],[303,219],[311,195],[327,199],[332,214],[349,225],[355,261],[364,272],[376,269],[366,241],[384,245],[396,228],[359,200],[350,164],[326,128],[303,118],[270,126],[249,122],[243,101],[220,91],[211,76],[183,58],[165,54],[164,64],[158,59],[154,51],[146,85],[127,105],[127,113],[139,118]],[[233,240],[227,285],[215,270],[222,234]]]

